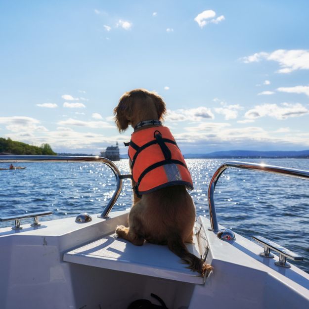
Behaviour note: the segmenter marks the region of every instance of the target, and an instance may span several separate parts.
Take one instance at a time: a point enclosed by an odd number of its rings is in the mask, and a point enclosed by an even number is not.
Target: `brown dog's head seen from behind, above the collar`
[[[166,107],[160,95],[146,89],[134,89],[124,93],[114,108],[115,122],[119,132],[129,125],[134,127],[143,120],[163,120]]]

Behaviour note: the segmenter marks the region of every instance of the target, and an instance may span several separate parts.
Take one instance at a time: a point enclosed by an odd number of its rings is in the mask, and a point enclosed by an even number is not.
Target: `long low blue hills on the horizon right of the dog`
[[[229,150],[211,153],[188,153],[185,158],[309,158],[309,150],[302,151],[255,151],[255,150]]]

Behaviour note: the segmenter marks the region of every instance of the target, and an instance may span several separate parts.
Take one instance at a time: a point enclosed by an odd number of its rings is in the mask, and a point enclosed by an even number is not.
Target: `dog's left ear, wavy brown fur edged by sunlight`
[[[128,129],[131,122],[131,99],[128,93],[125,93],[114,108],[115,123],[119,132]]]

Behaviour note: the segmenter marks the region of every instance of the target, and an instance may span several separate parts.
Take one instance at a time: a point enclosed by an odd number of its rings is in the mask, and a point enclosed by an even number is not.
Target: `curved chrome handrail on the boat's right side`
[[[228,161],[223,163],[215,172],[212,179],[210,180],[208,187],[208,205],[209,205],[209,216],[210,216],[210,230],[218,231],[219,225],[217,221],[215,201],[214,201],[214,193],[215,187],[219,177],[227,168],[236,168],[243,170],[251,170],[251,171],[260,171],[272,174],[280,174],[289,177],[302,178],[309,180],[309,171],[297,170],[284,168],[279,166],[267,165],[267,164],[258,164],[258,163],[250,163],[250,162],[239,162],[239,161]]]

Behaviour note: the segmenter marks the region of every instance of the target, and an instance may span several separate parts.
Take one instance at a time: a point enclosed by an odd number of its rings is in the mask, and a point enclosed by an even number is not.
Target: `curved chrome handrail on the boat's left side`
[[[122,190],[122,179],[131,177],[131,175],[121,175],[117,166],[112,161],[99,156],[0,156],[0,163],[11,162],[101,162],[106,164],[116,177],[116,191],[103,209],[102,213],[98,215],[99,218],[108,218],[108,214],[116,203]]]

